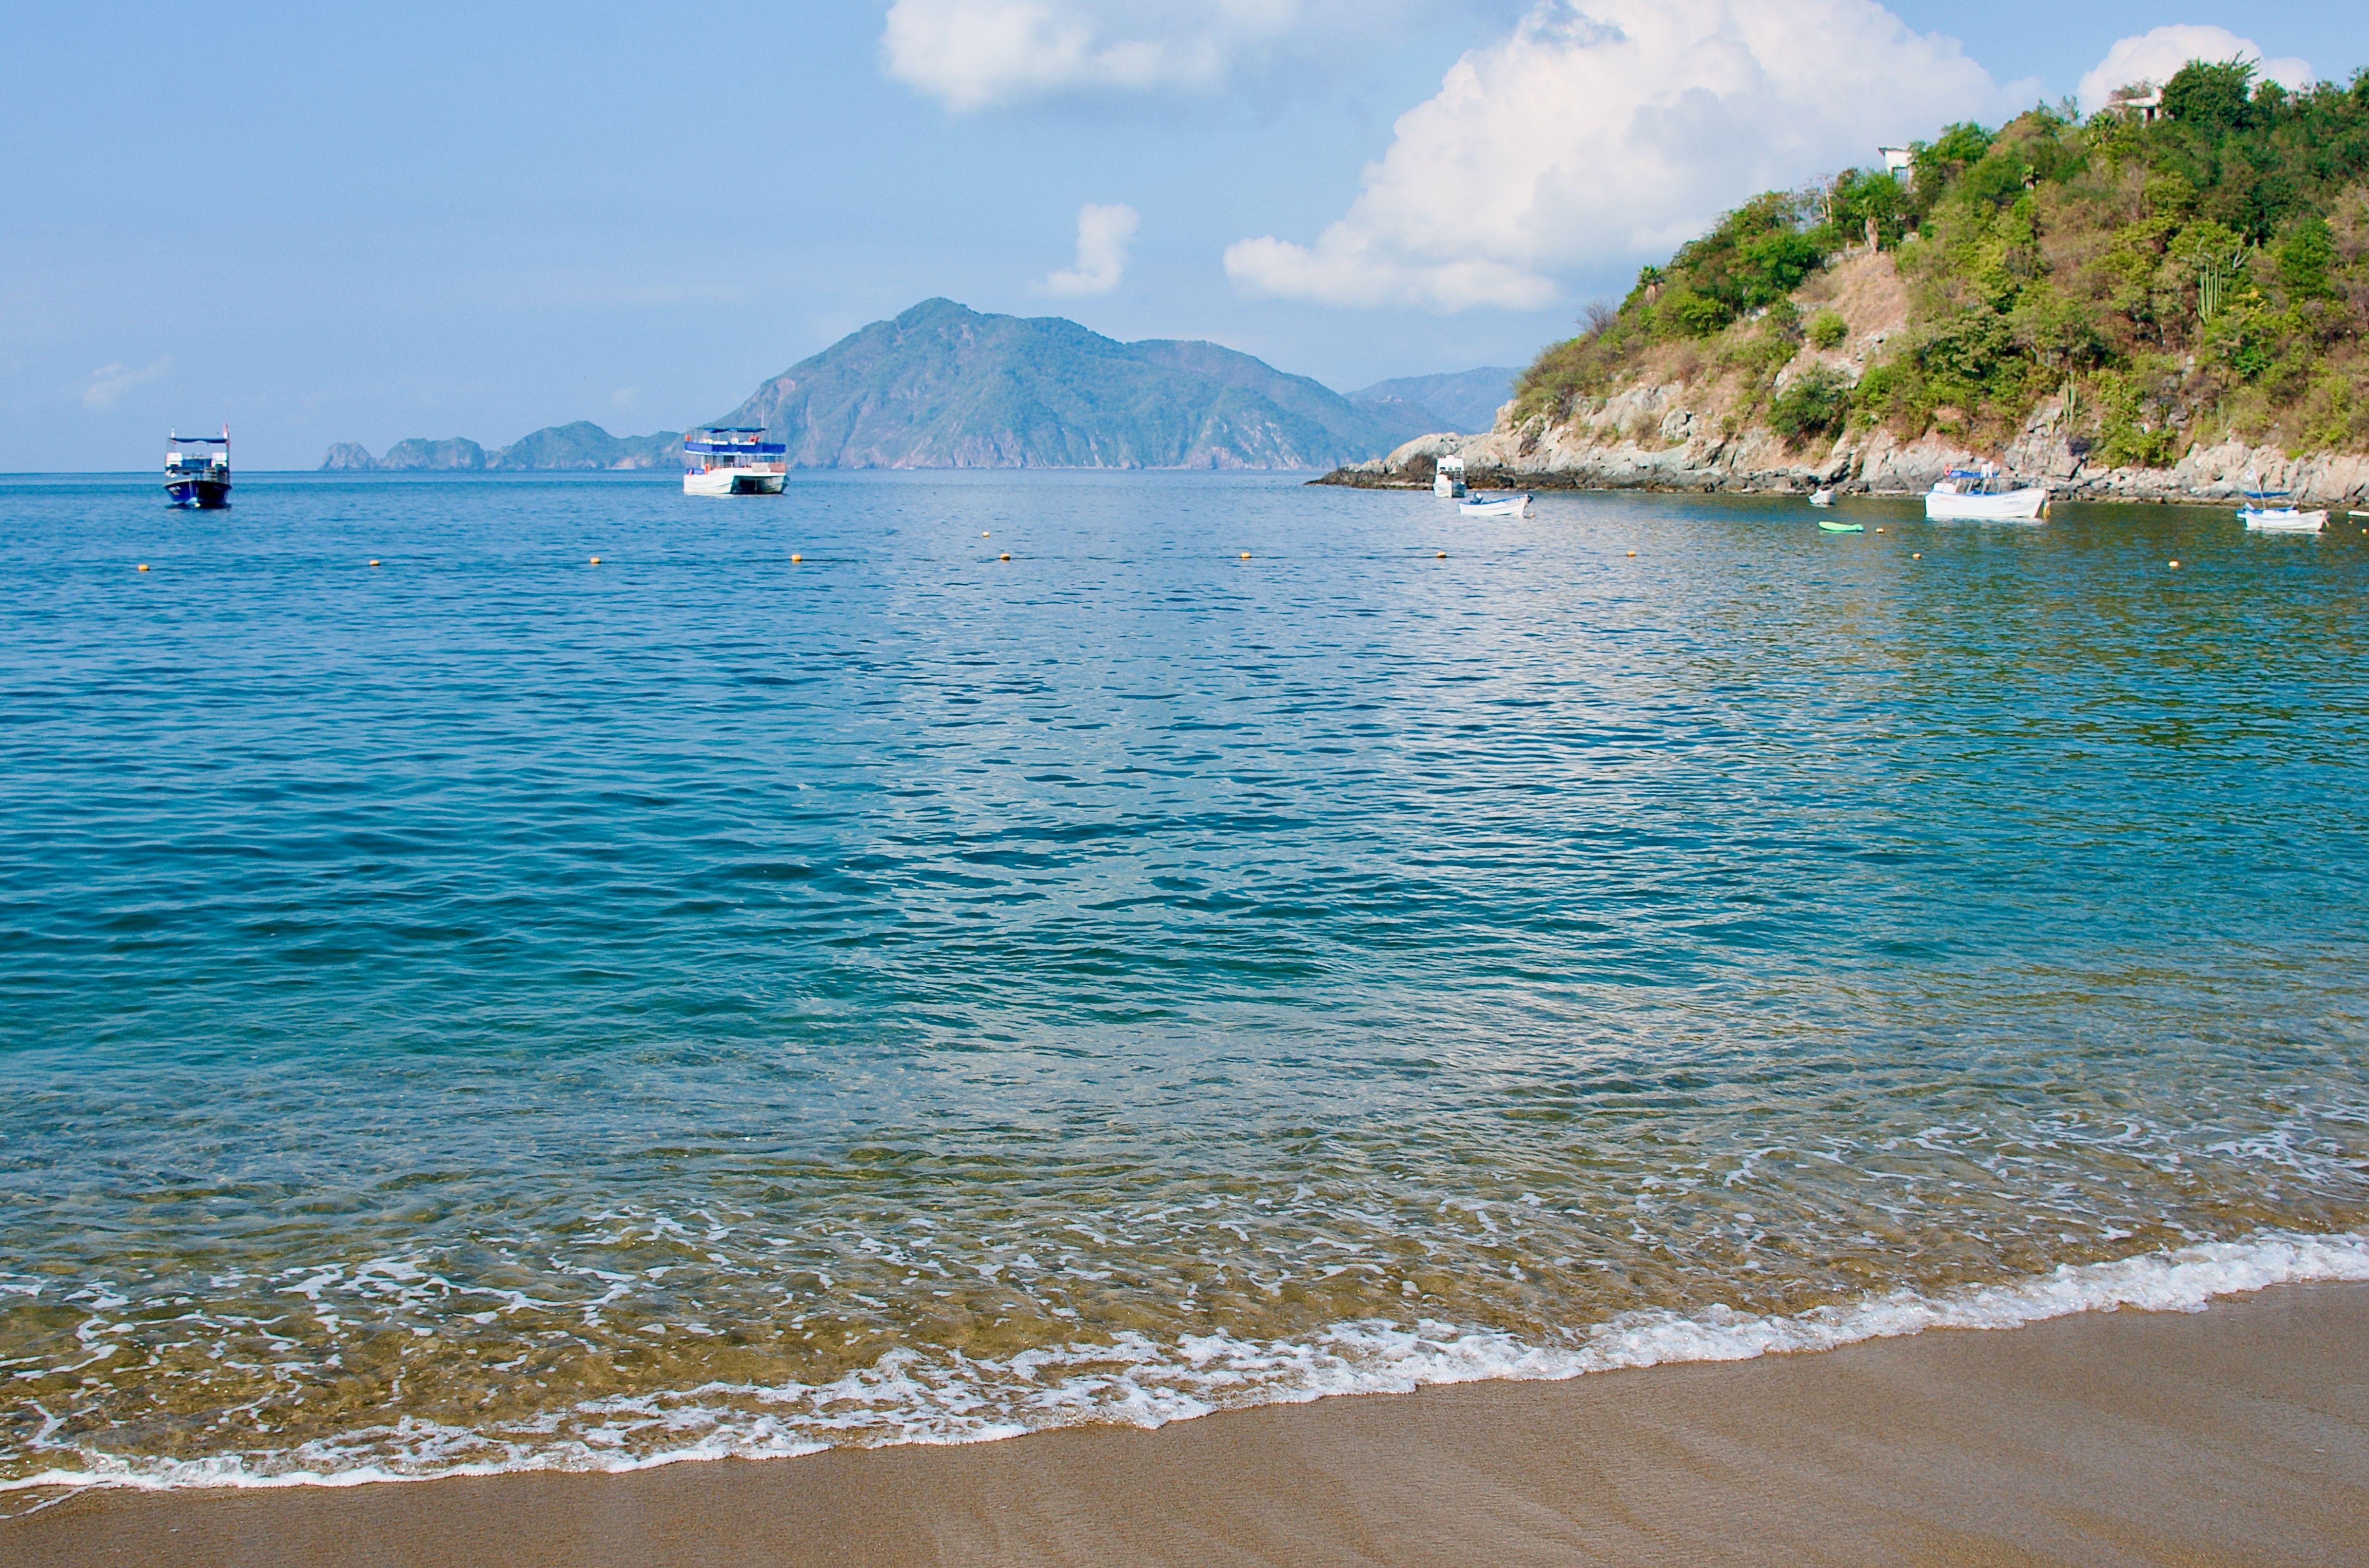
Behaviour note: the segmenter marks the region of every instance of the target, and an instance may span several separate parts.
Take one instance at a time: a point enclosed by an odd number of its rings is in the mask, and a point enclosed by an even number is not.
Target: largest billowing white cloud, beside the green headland
[[[1661,256],[1758,189],[2025,92],[1874,0],[1545,0],[1400,116],[1312,246],[1244,239],[1225,270],[1338,306],[1535,308],[1568,270]]]

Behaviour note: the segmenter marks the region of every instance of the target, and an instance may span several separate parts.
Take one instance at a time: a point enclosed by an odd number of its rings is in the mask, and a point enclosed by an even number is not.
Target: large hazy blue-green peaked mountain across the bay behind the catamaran
[[[1322,469],[1433,429],[1215,343],[948,298],[791,365],[718,424],[760,424],[808,469]]]

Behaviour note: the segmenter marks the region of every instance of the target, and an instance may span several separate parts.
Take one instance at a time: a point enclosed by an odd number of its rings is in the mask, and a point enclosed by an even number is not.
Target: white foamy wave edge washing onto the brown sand
[[[1933,1296],[1893,1291],[1796,1315],[1642,1310],[1573,1326],[1561,1343],[1443,1322],[1362,1319],[1301,1341],[1215,1334],[1158,1343],[1123,1334],[1102,1343],[1035,1348],[1000,1362],[929,1362],[912,1350],[893,1350],[834,1383],[706,1383],[592,1400],[495,1433],[405,1419],[275,1452],[123,1459],[76,1450],[71,1464],[5,1480],[0,1492],[637,1471],[841,1445],[986,1442],[1090,1421],[1151,1428],[1253,1405],[1412,1393],[1485,1379],[1573,1379],[1668,1362],[1741,1362],[1926,1329],[2016,1329],[2075,1312],[2201,1312],[2220,1296],[2310,1281],[2369,1281],[2369,1234],[2260,1232]],[[33,1447],[40,1447],[38,1438]]]

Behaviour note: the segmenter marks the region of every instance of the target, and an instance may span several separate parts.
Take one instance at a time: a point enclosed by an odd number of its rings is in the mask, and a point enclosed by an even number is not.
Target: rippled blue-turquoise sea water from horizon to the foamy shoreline
[[[0,481],[0,1480],[1163,1419],[2369,1225],[2369,538],[159,502]]]

